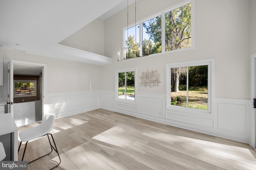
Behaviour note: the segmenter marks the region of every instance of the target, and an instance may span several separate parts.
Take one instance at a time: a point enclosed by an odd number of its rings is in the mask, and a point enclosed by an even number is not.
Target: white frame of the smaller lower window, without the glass
[[[133,72],[134,71],[134,100],[120,99],[118,98],[118,73],[120,72]],[[137,102],[137,68],[125,68],[115,70],[115,96],[116,101],[125,103],[136,103]]]

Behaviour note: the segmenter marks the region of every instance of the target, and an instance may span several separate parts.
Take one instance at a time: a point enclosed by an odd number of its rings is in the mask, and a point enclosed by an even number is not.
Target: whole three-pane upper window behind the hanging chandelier
[[[118,60],[192,47],[192,1],[184,0],[124,28],[124,54],[119,51]]]

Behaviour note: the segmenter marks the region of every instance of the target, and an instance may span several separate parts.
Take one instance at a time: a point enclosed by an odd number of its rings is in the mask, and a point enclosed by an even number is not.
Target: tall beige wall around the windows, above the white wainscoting
[[[137,3],[137,20],[164,10],[177,2],[181,1],[140,0]],[[215,59],[215,96],[250,99],[248,9],[249,0],[196,0],[194,50],[117,62],[116,49],[122,47],[122,28],[127,25],[126,9],[122,10],[105,20],[105,55],[112,57],[113,62],[109,66],[102,67],[104,85],[102,84],[101,89],[114,90],[115,69],[138,67],[138,92],[165,94],[167,63]],[[152,69],[159,71],[162,83],[154,88],[140,87],[141,73]]]

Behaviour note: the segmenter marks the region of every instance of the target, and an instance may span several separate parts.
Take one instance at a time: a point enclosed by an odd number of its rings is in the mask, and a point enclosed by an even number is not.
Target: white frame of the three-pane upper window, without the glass
[[[175,10],[177,8],[180,8],[181,6],[184,6],[186,4],[190,4],[191,3],[191,47],[186,47],[186,48],[183,48],[183,49],[176,49],[176,50],[172,50],[172,51],[165,51],[165,14],[167,12],[170,12],[172,10]],[[184,0],[182,2],[179,2],[177,4],[174,4],[164,10],[161,10],[159,12],[156,12],[155,14],[152,14],[146,18],[143,18],[141,20],[138,20],[136,21],[136,24],[135,23],[132,23],[132,24],[129,24],[128,26],[124,26],[123,27],[123,30],[122,30],[122,33],[123,33],[123,47],[126,47],[126,43],[125,43],[125,30],[128,28],[130,29],[131,27],[134,27],[135,25],[140,25],[140,43],[142,43],[143,39],[142,39],[142,23],[143,22],[146,22],[152,18],[156,18],[158,16],[161,16],[162,18],[162,23],[161,23],[161,40],[162,40],[162,52],[161,53],[154,53],[154,54],[150,54],[150,56],[156,56],[156,55],[163,55],[163,54],[168,54],[168,53],[177,53],[177,52],[180,52],[180,51],[187,51],[187,50],[192,50],[192,49],[195,49],[195,12],[194,12],[194,0]],[[140,57],[142,57],[142,50],[140,51]],[[143,56],[144,57],[144,56]],[[147,57],[147,56],[145,56]],[[135,57],[133,59],[136,59],[136,58],[139,58],[139,57]]]

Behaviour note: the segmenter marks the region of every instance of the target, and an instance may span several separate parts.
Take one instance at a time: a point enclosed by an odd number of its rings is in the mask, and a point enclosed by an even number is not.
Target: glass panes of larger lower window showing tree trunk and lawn
[[[174,106],[208,109],[208,65],[170,68]]]

